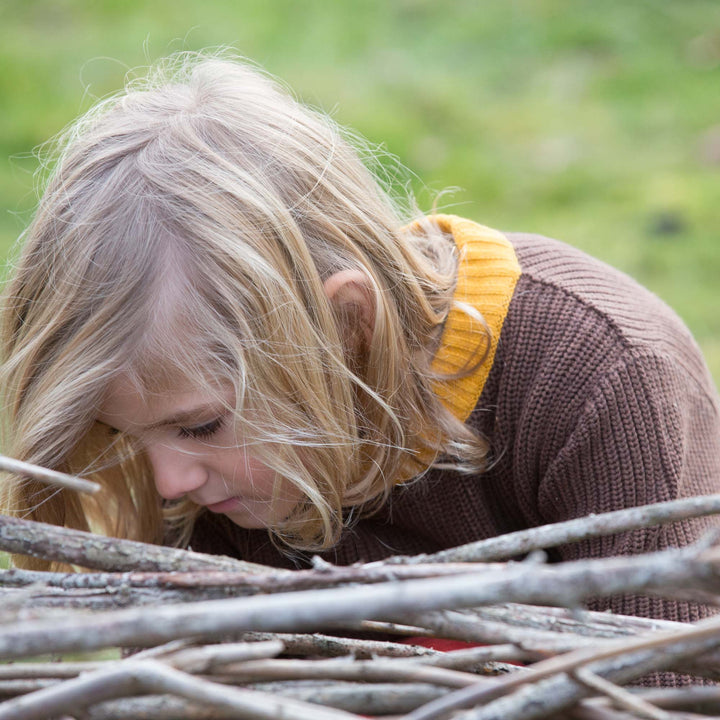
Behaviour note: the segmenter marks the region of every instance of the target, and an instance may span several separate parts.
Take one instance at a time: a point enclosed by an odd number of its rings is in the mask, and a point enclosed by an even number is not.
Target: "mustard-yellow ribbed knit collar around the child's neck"
[[[483,361],[461,378],[437,381],[434,390],[458,419],[467,420],[480,399],[495,359],[498,338],[520,277],[520,264],[508,239],[497,230],[454,215],[429,218],[450,233],[459,253],[454,304],[440,340],[432,369],[454,375]],[[489,346],[482,344],[485,326],[464,307],[480,313],[489,330]]]

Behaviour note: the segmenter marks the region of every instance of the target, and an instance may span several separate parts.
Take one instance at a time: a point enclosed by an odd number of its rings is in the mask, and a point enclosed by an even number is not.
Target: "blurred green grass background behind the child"
[[[0,254],[33,149],[129,69],[229,45],[409,169],[424,209],[636,277],[720,381],[717,0],[0,0]]]

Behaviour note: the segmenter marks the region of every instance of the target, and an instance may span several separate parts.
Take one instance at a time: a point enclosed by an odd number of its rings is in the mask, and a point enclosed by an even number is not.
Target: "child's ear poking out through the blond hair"
[[[340,270],[323,283],[341,323],[346,348],[354,355],[367,349],[375,332],[375,291],[361,270]]]

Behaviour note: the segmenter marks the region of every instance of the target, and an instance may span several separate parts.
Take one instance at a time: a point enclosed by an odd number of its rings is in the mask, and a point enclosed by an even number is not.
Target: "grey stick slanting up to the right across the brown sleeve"
[[[664,525],[677,520],[720,513],[720,495],[703,495],[680,500],[615,510],[600,515],[567,520],[498,535],[497,537],[461,545],[431,555],[397,556],[372,565],[429,562],[490,562],[507,560],[532,550],[581,542],[595,537]]]

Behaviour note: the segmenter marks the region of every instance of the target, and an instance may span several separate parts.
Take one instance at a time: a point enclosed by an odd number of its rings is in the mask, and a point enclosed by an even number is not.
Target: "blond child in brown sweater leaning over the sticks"
[[[717,394],[660,300],[544,237],[403,217],[233,60],[176,58],[66,133],[3,312],[5,452],[104,487],[8,479],[22,517],[293,567],[720,492]]]

